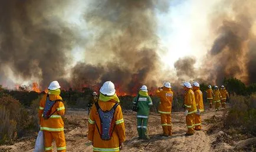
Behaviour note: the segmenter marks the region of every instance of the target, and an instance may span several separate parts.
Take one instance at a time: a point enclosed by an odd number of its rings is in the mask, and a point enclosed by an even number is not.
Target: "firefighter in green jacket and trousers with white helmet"
[[[133,99],[133,104],[137,104],[137,131],[139,138],[149,139],[149,136],[147,136],[147,120],[149,118],[150,106],[153,103],[147,94],[146,85],[142,85],[139,94]]]

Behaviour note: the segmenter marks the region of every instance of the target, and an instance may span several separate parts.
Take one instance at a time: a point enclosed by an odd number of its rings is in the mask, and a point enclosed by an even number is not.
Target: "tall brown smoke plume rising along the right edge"
[[[237,77],[247,83],[256,82],[255,41],[251,39],[255,1],[225,1],[224,4],[232,6],[233,15],[215,14],[221,22],[213,21],[218,37],[206,57],[208,81],[221,84],[224,77]]]

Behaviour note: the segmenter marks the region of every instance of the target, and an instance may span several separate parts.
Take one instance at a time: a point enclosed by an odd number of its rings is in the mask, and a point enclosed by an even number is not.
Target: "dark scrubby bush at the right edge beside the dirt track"
[[[225,127],[241,128],[242,133],[256,135],[256,94],[250,97],[235,95],[230,99],[231,109],[225,118]]]

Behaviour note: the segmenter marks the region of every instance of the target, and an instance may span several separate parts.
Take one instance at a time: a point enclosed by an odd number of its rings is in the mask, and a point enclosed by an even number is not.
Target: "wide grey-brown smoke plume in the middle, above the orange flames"
[[[162,1],[164,2],[164,1]],[[158,1],[159,4],[161,2]],[[156,6],[159,6],[156,8]],[[155,85],[160,60],[156,54],[156,9],[166,11],[152,0],[95,1],[85,12],[87,26],[94,31],[87,57],[96,57],[93,64],[74,67],[74,86],[101,85],[111,80],[117,90],[134,94],[142,84]],[[168,7],[167,7],[168,8]],[[90,58],[88,58],[90,60]]]

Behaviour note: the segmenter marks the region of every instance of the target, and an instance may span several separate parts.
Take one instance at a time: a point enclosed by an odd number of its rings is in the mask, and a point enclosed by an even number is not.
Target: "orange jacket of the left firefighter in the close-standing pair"
[[[188,110],[188,114],[196,113],[197,109],[196,109],[195,94],[191,89],[189,89],[185,93],[184,105],[186,107],[186,110]]]

